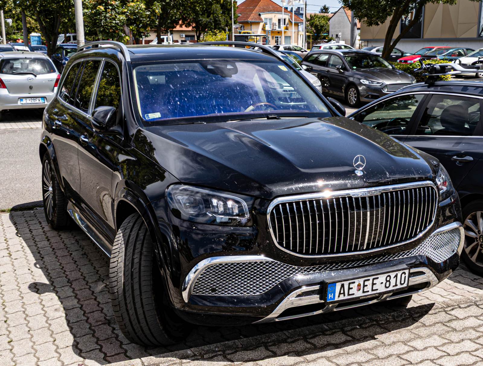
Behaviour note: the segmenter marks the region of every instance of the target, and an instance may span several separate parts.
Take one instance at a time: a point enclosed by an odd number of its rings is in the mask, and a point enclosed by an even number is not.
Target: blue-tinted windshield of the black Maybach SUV
[[[136,67],[134,79],[139,113],[152,125],[331,115],[298,73],[275,60],[153,63]]]

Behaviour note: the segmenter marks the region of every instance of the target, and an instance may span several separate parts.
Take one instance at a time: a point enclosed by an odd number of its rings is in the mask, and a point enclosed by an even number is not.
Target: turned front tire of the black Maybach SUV
[[[117,231],[109,268],[109,293],[122,333],[143,346],[184,339],[188,327],[167,304],[153,240],[137,213]]]

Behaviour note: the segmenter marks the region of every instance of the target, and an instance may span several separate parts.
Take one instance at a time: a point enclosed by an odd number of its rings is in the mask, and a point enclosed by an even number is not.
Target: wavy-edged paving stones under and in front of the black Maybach
[[[108,260],[43,210],[0,214],[0,366],[483,365],[483,279],[464,267],[408,309],[371,306],[292,322],[193,326],[182,344],[142,348],[119,332]]]

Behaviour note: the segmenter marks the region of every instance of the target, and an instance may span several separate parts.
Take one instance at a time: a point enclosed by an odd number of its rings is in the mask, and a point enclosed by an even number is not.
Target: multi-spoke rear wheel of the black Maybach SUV
[[[54,164],[48,152],[42,159],[42,200],[47,223],[53,229],[68,226],[67,198],[57,181]]]

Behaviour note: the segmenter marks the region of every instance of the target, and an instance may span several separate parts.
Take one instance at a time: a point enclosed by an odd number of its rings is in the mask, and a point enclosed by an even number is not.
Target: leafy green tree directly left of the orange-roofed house
[[[233,14],[237,18],[236,4],[233,2]],[[223,31],[231,28],[231,0],[199,1],[189,0],[189,6],[183,12],[183,23],[195,30],[196,39],[208,31]]]

